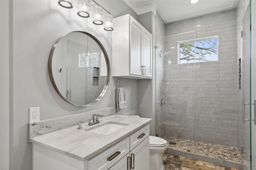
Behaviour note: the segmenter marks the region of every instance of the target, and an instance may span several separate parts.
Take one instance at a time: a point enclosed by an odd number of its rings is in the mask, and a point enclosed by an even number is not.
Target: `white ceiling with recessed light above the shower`
[[[138,15],[146,12],[159,13],[164,23],[185,20],[214,12],[236,8],[238,0],[124,0]]]

